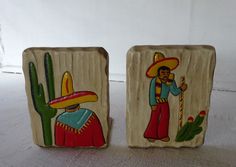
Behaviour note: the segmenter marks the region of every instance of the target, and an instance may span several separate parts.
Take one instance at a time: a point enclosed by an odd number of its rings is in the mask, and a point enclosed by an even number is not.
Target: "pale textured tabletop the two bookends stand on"
[[[235,167],[236,93],[212,92],[205,144],[191,148],[128,148],[125,135],[125,83],[110,82],[111,140],[107,149],[42,148],[32,141],[24,76],[0,73],[1,167]]]

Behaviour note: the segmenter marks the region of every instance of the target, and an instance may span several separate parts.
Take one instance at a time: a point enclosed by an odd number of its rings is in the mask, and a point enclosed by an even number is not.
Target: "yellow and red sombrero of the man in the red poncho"
[[[97,94],[91,91],[74,92],[71,74],[67,71],[62,78],[61,97],[49,102],[50,107],[62,109],[76,104],[95,102]]]

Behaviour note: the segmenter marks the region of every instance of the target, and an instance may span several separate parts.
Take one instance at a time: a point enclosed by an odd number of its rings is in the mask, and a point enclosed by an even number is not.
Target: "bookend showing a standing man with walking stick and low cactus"
[[[130,147],[204,143],[216,53],[212,46],[134,46],[127,54]]]

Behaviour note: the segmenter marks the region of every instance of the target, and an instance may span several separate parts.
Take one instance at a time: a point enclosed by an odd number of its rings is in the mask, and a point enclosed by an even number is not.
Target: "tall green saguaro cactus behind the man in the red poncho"
[[[49,53],[44,55],[45,77],[49,100],[55,98],[54,77],[52,59]],[[51,108],[45,100],[42,83],[38,83],[37,71],[33,62],[29,63],[29,75],[31,84],[31,95],[35,110],[39,113],[42,121],[44,144],[52,145],[51,119],[56,115],[57,110]]]

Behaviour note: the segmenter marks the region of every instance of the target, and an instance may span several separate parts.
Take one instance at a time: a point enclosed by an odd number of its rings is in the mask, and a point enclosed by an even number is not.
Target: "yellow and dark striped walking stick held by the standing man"
[[[180,85],[185,83],[185,77],[180,78]],[[179,120],[178,120],[178,131],[183,126],[183,111],[184,111],[184,92],[181,92],[179,96]]]

